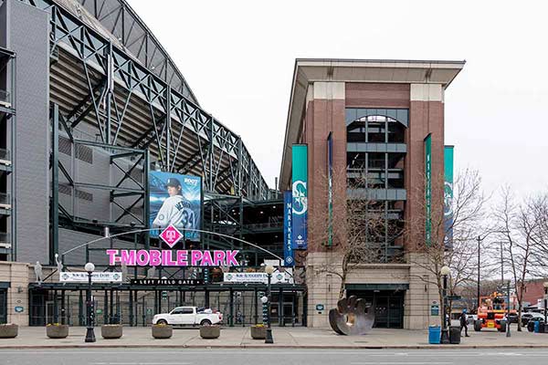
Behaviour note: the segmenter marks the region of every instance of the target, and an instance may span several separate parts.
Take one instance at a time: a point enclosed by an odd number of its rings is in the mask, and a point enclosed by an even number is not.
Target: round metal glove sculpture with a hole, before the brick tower
[[[343,297],[337,302],[337,308],[329,311],[329,324],[340,335],[364,335],[373,328],[373,323],[373,308],[356,296]]]

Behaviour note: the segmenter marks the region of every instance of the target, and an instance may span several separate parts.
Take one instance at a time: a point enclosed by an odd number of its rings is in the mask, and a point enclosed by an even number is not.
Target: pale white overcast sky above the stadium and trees
[[[129,0],[202,107],[279,175],[295,58],[465,59],[446,91],[456,169],[487,190],[548,190],[543,1]]]

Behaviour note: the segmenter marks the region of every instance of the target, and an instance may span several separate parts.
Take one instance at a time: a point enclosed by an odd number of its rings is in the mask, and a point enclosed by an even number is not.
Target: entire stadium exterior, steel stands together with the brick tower
[[[340,282],[321,268],[337,270],[340,253],[316,245],[314,224],[328,204],[328,137],[333,168],[346,172],[335,179],[346,184],[365,172],[386,224],[409,221],[420,215],[409,192],[424,191],[427,136],[432,170],[443,171],[444,91],[463,67],[297,60],[279,190],[271,190],[241,138],[200,107],[123,0],[0,0],[0,62],[0,323],[32,326],[84,325],[87,285],[60,274],[81,273],[87,262],[123,275],[93,284],[98,325],[146,326],[183,304],[219,309],[229,326],[258,323],[266,286],[226,275],[266,263],[284,277],[273,285],[273,322],[327,326]],[[291,187],[294,144],[308,146],[310,242],[294,253],[295,266],[283,267],[281,192]],[[109,265],[108,249],[167,248],[150,231],[157,173],[201,179],[199,239],[173,248],[238,250],[240,266]],[[442,186],[434,179],[432,192]],[[357,199],[350,185],[344,190],[338,198]],[[432,319],[436,289],[417,278],[427,273],[412,264],[416,235],[386,235],[378,262],[347,280],[346,293],[370,301],[378,327],[426,328]]]

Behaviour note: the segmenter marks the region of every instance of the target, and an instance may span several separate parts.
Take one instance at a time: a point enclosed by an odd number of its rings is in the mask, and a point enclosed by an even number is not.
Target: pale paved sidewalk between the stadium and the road
[[[512,328],[513,329],[513,328]],[[95,328],[97,342],[84,342],[86,328],[70,328],[67,339],[47,339],[46,328],[19,328],[16,339],[0,339],[0,349],[47,348],[294,348],[294,349],[477,349],[548,348],[548,334],[517,332],[511,338],[499,332],[470,332],[460,345],[429,345],[427,331],[375,328],[364,336],[339,336],[327,328],[272,328],[274,344],[251,339],[249,328],[222,328],[219,339],[201,339],[197,328],[175,328],[171,339],[153,339],[151,328],[123,328],[121,339],[102,339]]]

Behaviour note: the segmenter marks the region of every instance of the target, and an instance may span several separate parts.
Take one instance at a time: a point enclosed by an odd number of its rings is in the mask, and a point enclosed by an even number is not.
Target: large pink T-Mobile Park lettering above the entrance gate
[[[111,266],[239,266],[238,250],[106,250]]]

